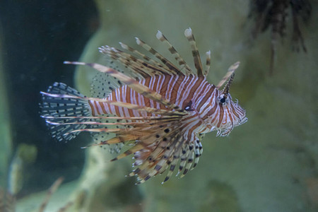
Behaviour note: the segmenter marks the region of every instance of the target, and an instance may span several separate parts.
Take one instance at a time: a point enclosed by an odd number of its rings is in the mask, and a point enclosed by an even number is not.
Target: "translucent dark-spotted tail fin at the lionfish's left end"
[[[80,133],[79,131],[74,133],[69,132],[86,128],[87,125],[85,124],[67,123],[83,122],[83,117],[90,117],[92,115],[88,100],[71,97],[65,98],[63,96],[73,95],[84,98],[84,95],[66,86],[64,83],[54,83],[53,86],[49,86],[47,93],[41,92],[41,94],[41,117],[45,118],[53,138],[56,138],[58,141],[69,141]]]

